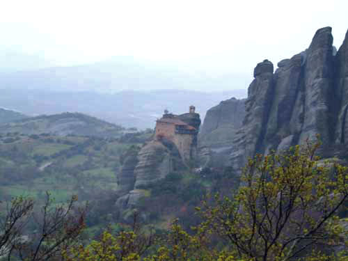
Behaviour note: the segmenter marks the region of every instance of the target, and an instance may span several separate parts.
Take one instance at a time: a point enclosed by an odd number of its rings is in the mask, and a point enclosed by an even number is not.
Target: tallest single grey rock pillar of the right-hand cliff
[[[331,97],[333,86],[333,36],[331,27],[319,29],[306,51],[303,65],[304,96],[303,126],[299,142],[320,134],[324,143],[332,141],[333,116]]]

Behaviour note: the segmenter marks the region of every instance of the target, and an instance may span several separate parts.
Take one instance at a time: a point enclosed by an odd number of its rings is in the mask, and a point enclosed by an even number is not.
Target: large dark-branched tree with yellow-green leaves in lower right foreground
[[[311,258],[342,243],[337,212],[347,202],[347,168],[318,161],[318,147],[249,159],[233,198],[216,196],[215,204],[198,208],[199,229],[225,239],[237,258],[254,261]]]

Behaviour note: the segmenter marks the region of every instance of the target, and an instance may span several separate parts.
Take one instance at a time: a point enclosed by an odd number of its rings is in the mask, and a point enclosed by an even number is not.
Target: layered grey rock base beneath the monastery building
[[[121,210],[122,216],[128,213],[127,209],[136,207],[141,198],[150,196],[148,187],[153,183],[184,168],[180,152],[167,139],[150,141],[139,151],[130,148],[118,175],[116,207]]]

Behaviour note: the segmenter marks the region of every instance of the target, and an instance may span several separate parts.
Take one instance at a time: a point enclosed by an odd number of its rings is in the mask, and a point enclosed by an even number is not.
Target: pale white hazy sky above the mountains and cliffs
[[[134,56],[251,75],[303,51],[317,29],[333,27],[339,47],[348,1],[3,0],[0,50],[58,65]]]

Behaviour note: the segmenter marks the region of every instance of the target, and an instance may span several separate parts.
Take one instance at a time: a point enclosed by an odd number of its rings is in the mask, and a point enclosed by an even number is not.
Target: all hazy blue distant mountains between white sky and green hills
[[[30,116],[78,111],[125,127],[153,128],[164,109],[184,113],[193,104],[204,118],[207,109],[221,100],[246,97],[248,79],[216,73],[132,57],[71,67],[0,70],[0,106]]]

